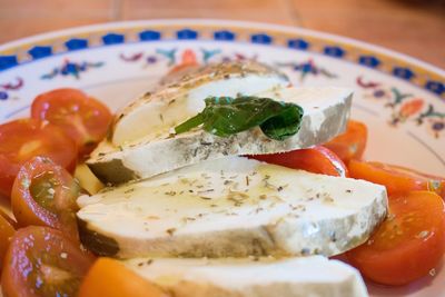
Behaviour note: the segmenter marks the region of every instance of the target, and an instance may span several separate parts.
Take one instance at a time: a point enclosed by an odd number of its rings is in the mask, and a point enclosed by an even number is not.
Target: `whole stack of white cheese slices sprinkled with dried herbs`
[[[175,133],[211,96],[299,105],[284,141],[259,128]],[[82,242],[121,259],[176,297],[367,296],[359,274],[326,257],[363,244],[387,211],[385,188],[240,157],[323,143],[343,132],[352,92],[294,88],[257,62],[170,79],[125,107],[87,161],[115,185],[78,199]]]

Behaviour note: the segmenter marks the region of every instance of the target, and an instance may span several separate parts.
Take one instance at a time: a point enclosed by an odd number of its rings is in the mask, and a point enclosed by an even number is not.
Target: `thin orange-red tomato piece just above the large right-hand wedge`
[[[428,190],[445,198],[445,178],[443,177],[383,162],[350,160],[348,167],[352,177],[383,185],[390,196],[413,190]]]

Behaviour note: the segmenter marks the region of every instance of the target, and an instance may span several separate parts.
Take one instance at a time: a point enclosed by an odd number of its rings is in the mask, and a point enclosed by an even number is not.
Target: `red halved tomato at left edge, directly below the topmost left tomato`
[[[23,162],[46,156],[72,172],[76,168],[76,143],[59,127],[36,119],[0,125],[0,194],[9,197]]]

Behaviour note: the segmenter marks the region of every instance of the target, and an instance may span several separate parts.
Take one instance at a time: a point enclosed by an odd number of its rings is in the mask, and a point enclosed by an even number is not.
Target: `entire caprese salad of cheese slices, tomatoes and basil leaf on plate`
[[[296,88],[258,62],[196,60],[108,133],[89,95],[38,96],[31,118],[0,126],[0,192],[18,221],[0,212],[3,295],[367,296],[355,268],[326,258],[343,253],[385,285],[434,275],[445,178],[362,160],[350,103],[350,90]],[[98,142],[79,186],[70,172]]]

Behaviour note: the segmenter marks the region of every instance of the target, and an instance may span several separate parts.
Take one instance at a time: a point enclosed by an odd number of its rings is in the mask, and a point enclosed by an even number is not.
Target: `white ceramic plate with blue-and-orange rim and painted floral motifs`
[[[150,89],[171,67],[258,59],[297,86],[355,90],[369,128],[365,157],[445,176],[445,71],[332,34],[249,22],[156,20],[90,26],[0,47],[0,122],[29,115],[36,95],[83,89],[111,109]],[[427,251],[425,251],[427,253]],[[369,284],[372,296],[445,296],[445,269],[411,286]]]

